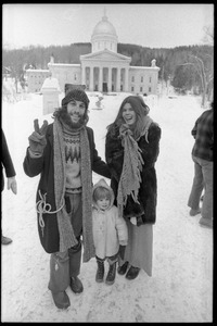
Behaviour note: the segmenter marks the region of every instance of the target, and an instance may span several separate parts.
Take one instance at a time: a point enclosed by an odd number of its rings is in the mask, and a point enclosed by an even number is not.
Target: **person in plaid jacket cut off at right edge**
[[[195,141],[192,148],[194,162],[194,177],[188,206],[189,214],[195,216],[201,213],[199,223],[213,227],[213,147],[214,147],[214,103],[209,110],[203,112],[191,130]],[[204,190],[202,209],[200,209],[201,195]]]

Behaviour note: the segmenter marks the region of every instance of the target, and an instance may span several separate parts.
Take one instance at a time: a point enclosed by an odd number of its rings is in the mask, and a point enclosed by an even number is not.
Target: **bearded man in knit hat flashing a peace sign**
[[[94,253],[92,238],[92,171],[110,178],[105,162],[98,155],[93,130],[87,126],[89,99],[82,89],[67,91],[62,106],[53,113],[54,122],[43,122],[29,136],[24,159],[27,176],[40,174],[37,190],[38,231],[50,255],[53,301],[59,309],[71,305],[66,289],[81,293],[78,278],[81,261]]]

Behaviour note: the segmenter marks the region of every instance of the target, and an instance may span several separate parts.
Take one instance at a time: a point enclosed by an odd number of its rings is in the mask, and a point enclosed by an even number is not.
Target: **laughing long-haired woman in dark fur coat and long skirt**
[[[140,269],[152,275],[153,224],[156,220],[157,181],[155,162],[159,153],[159,126],[148,115],[140,96],[129,96],[120,104],[108,127],[105,160],[111,170],[111,187],[119,214],[128,226],[124,263],[117,272],[135,279]]]

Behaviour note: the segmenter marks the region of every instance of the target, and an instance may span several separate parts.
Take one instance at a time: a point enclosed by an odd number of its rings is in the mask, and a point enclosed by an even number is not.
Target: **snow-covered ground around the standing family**
[[[104,159],[106,126],[127,93],[103,96],[102,110],[90,98],[89,126]],[[60,96],[62,99],[63,95]],[[150,116],[159,124],[162,139],[156,163],[157,218],[154,230],[153,275],[143,271],[135,280],[117,274],[113,286],[97,284],[92,259],[81,265],[84,292],[67,289],[71,306],[61,311],[48,290],[49,254],[38,238],[35,198],[39,177],[24,174],[23,160],[34,118],[42,115],[42,96],[25,95],[2,102],[2,127],[16,170],[18,192],[2,193],[2,229],[13,239],[1,246],[1,322],[212,322],[213,230],[199,225],[187,206],[193,179],[191,129],[204,109],[191,96],[149,97]],[[93,174],[93,181],[101,176]]]

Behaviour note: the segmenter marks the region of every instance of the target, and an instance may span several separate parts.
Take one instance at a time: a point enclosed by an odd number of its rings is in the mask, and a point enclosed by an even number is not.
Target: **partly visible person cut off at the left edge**
[[[17,193],[17,183],[15,178],[15,170],[13,165],[13,161],[9,151],[8,142],[3,130],[1,129],[1,191],[4,189],[4,173],[8,179],[8,190],[12,190],[14,195]],[[1,220],[2,220],[2,212],[1,212]],[[1,228],[1,244],[10,244],[12,239],[4,237],[2,235]]]

